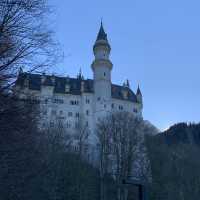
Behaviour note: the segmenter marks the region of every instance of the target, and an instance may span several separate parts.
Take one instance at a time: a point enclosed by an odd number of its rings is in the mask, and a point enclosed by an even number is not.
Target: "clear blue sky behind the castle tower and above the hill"
[[[144,118],[163,130],[200,120],[199,0],[50,0],[65,58],[53,68],[92,78],[92,46],[103,18],[112,47],[112,80],[141,86]]]

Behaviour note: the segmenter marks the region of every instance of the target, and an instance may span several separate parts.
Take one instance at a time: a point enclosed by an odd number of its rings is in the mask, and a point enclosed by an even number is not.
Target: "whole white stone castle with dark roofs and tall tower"
[[[93,80],[55,75],[20,72],[15,90],[21,99],[31,99],[41,106],[41,127],[47,123],[55,126],[62,120],[67,129],[76,128],[80,118],[91,132],[98,120],[108,113],[128,111],[142,117],[142,94],[138,87],[136,94],[127,81],[122,86],[112,84],[113,64],[109,59],[111,47],[101,23],[93,46],[94,61],[91,69]]]

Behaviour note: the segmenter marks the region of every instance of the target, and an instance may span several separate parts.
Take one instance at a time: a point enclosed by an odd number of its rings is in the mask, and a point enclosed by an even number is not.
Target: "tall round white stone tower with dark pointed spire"
[[[111,110],[111,71],[112,63],[109,60],[111,47],[102,22],[96,42],[93,46],[95,59],[92,63],[94,76],[94,112],[98,118]]]

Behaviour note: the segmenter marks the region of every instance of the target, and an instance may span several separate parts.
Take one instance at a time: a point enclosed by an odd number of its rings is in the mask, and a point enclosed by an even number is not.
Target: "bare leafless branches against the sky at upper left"
[[[46,19],[46,0],[1,0],[0,86],[11,86],[20,68],[44,70],[58,58]]]

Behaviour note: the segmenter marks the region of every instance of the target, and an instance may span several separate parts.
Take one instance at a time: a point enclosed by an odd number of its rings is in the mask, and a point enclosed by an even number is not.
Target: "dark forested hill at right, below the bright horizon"
[[[158,134],[167,144],[197,144],[200,146],[200,123],[178,123]]]

